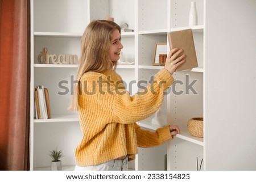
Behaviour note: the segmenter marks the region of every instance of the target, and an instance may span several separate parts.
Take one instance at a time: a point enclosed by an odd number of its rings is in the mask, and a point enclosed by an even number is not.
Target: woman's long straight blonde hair
[[[94,20],[88,24],[81,39],[81,57],[76,81],[80,81],[82,75],[88,71],[115,69],[117,62],[112,62],[109,57],[110,40],[115,29],[121,33],[118,24],[109,20]],[[75,83],[70,110],[78,111],[78,96],[79,83]]]

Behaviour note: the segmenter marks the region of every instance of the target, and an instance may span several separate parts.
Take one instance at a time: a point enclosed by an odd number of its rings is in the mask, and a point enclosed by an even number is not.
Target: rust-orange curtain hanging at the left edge
[[[0,170],[28,170],[30,1],[0,10]]]

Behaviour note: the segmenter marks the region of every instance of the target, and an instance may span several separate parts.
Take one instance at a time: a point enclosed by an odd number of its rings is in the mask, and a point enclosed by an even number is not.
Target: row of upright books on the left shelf
[[[51,118],[49,92],[44,86],[37,86],[35,88],[35,116],[36,119]]]

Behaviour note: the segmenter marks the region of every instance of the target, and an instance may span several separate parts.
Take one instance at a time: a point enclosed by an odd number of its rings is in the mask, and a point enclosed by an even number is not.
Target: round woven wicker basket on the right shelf
[[[194,137],[204,136],[204,120],[203,117],[193,117],[187,123],[188,132]]]

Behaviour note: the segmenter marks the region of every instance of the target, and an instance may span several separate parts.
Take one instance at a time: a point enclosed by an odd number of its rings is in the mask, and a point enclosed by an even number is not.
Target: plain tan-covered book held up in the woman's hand
[[[167,33],[170,49],[179,48],[183,49],[183,53],[187,57],[184,64],[177,67],[176,71],[192,69],[198,67],[196,58],[196,49],[193,40],[192,29],[184,29],[181,31],[168,32]]]

